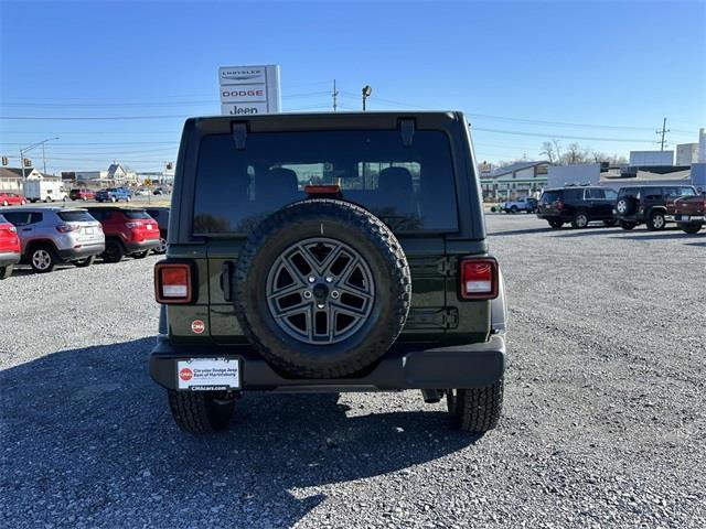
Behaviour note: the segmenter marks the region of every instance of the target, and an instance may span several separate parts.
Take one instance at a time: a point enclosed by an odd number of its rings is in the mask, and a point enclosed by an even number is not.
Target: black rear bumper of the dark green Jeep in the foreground
[[[173,346],[161,335],[149,357],[151,377],[160,386],[178,389],[176,363],[189,358],[237,358],[242,388],[282,392],[385,391],[489,386],[505,371],[505,339],[493,335],[482,344],[429,349],[393,347],[367,375],[357,378],[290,379],[276,373],[249,345]]]

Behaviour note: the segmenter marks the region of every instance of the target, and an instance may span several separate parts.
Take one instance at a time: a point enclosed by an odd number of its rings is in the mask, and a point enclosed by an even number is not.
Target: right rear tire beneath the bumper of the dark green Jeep
[[[503,384],[501,378],[482,388],[447,390],[447,406],[453,424],[469,433],[494,429],[503,408]]]

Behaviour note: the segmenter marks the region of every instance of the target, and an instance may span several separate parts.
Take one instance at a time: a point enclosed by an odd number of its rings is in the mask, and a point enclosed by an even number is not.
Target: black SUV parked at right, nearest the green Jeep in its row
[[[566,223],[585,228],[588,223],[602,220],[614,226],[612,208],[618,194],[614,190],[590,186],[567,186],[545,190],[537,206],[537,218],[544,218],[555,229]]]

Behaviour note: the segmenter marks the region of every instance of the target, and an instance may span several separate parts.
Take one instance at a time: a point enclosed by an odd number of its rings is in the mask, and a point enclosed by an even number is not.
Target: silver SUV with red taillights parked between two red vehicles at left
[[[86,209],[19,207],[2,214],[18,228],[20,262],[38,272],[51,272],[61,262],[88,267],[105,250],[103,227]]]

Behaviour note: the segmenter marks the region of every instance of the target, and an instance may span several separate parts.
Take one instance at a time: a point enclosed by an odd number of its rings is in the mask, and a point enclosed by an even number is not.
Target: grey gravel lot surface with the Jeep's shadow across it
[[[488,224],[511,357],[481,439],[416,391],[250,393],[231,431],[182,434],[146,368],[157,258],[15,273],[0,525],[705,527],[704,231]]]

